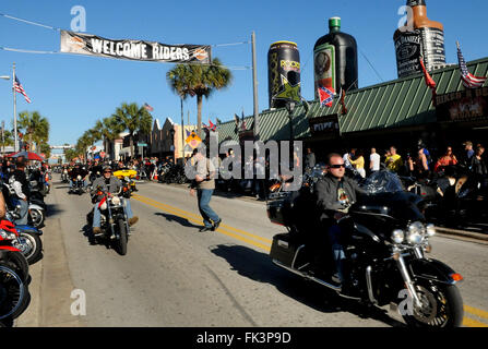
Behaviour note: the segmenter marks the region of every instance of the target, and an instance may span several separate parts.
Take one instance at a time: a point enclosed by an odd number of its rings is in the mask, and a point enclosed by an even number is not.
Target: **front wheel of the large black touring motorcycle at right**
[[[416,282],[421,308],[413,303],[413,314],[402,315],[412,327],[460,327],[463,323],[463,299],[455,285]]]

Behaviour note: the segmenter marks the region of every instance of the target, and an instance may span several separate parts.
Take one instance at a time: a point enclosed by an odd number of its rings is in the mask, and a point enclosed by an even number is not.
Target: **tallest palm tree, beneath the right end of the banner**
[[[218,58],[212,60],[212,64],[177,64],[166,73],[169,87],[181,99],[188,95],[197,96],[198,133],[202,135],[202,100],[209,98],[215,89],[230,85],[233,74],[222,65]]]

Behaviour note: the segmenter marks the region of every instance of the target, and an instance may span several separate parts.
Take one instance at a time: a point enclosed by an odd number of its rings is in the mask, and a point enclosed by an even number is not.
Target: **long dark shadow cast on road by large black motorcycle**
[[[334,291],[288,273],[271,262],[267,254],[247,246],[219,244],[211,252],[227,261],[233,270],[254,281],[270,284],[283,294],[324,313],[348,312],[361,318],[372,318],[393,327],[405,324],[390,317],[388,311],[360,304],[337,296]]]

